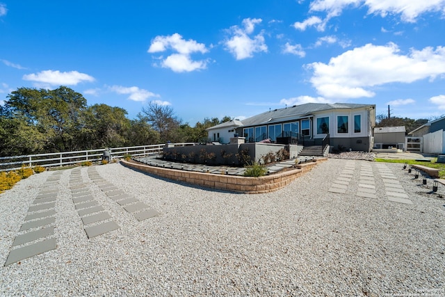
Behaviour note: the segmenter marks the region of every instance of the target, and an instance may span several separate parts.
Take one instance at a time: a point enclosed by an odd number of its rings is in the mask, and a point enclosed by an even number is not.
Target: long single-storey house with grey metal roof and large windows
[[[373,147],[375,105],[307,103],[226,123],[208,128],[209,138],[227,137],[228,131],[234,130],[246,143],[269,138],[273,143],[314,145],[329,135],[331,147],[367,152]]]

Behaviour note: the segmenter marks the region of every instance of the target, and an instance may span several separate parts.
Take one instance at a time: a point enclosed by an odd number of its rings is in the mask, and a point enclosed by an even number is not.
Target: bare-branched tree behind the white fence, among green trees
[[[144,106],[142,112],[145,119],[159,132],[159,141],[166,143],[167,141],[176,142],[173,131],[177,130],[181,125],[181,120],[177,118],[171,106],[150,102],[148,106]]]

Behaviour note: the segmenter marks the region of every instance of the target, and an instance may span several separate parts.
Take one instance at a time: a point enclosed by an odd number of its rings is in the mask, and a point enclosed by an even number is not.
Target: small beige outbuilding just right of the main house
[[[374,147],[377,149],[394,147],[403,150],[405,147],[405,134],[405,126],[375,127]]]

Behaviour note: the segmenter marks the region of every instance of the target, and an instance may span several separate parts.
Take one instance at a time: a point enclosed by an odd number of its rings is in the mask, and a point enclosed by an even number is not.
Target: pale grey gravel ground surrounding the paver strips
[[[347,164],[371,164],[376,199],[327,190]],[[88,239],[60,178],[56,250],[0,268],[1,296],[445,296],[445,199],[387,163],[413,204],[389,202],[374,162],[330,159],[274,193],[168,182],[120,164],[108,182],[161,215],[139,222],[88,178],[120,229]],[[381,164],[381,163],[380,163]],[[0,265],[51,172],[0,195]],[[430,181],[429,181],[430,182]],[[445,186],[439,194],[445,195]],[[435,295],[432,295],[435,294]]]

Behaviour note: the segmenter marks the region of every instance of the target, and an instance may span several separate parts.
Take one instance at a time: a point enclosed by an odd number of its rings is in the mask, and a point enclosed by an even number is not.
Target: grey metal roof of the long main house
[[[375,107],[374,104],[350,104],[350,103],[306,103],[301,105],[294,105],[284,109],[275,109],[266,111],[259,115],[254,115],[251,118],[243,120],[244,127],[251,127],[257,125],[266,125],[274,122],[282,122],[284,118],[307,118],[314,113],[321,111],[330,111],[334,109],[362,109],[368,107]]]

